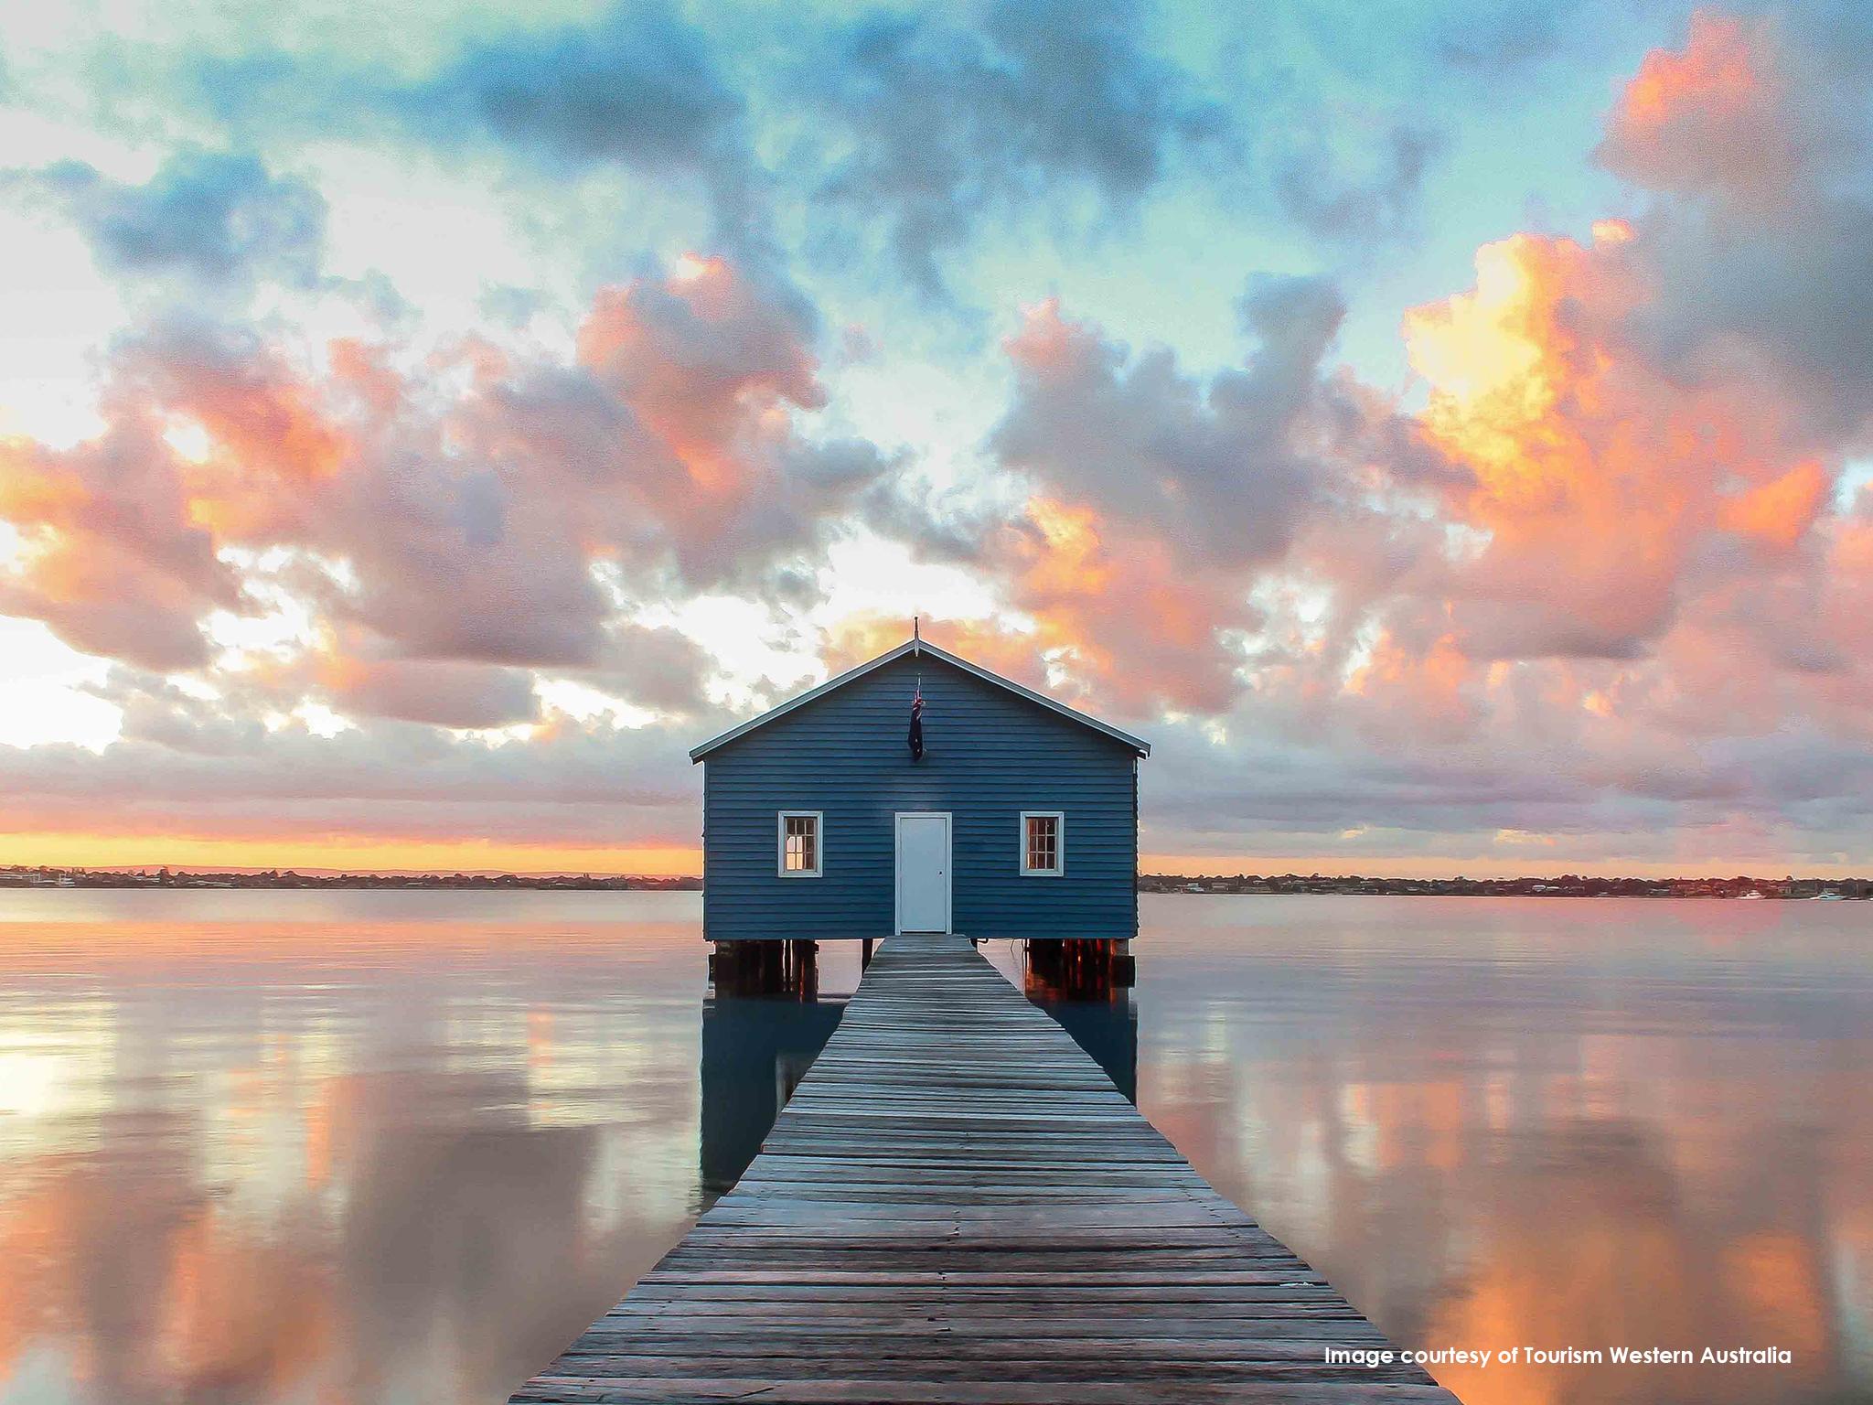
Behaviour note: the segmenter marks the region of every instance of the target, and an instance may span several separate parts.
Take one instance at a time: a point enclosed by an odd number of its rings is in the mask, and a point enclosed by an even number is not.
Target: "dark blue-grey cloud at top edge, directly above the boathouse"
[[[1231,140],[1225,109],[1146,47],[1146,9],[1047,0],[978,22],[875,9],[833,30],[805,97],[833,122],[822,199],[882,223],[914,287],[983,219],[1077,195],[1129,212],[1178,159]]]

